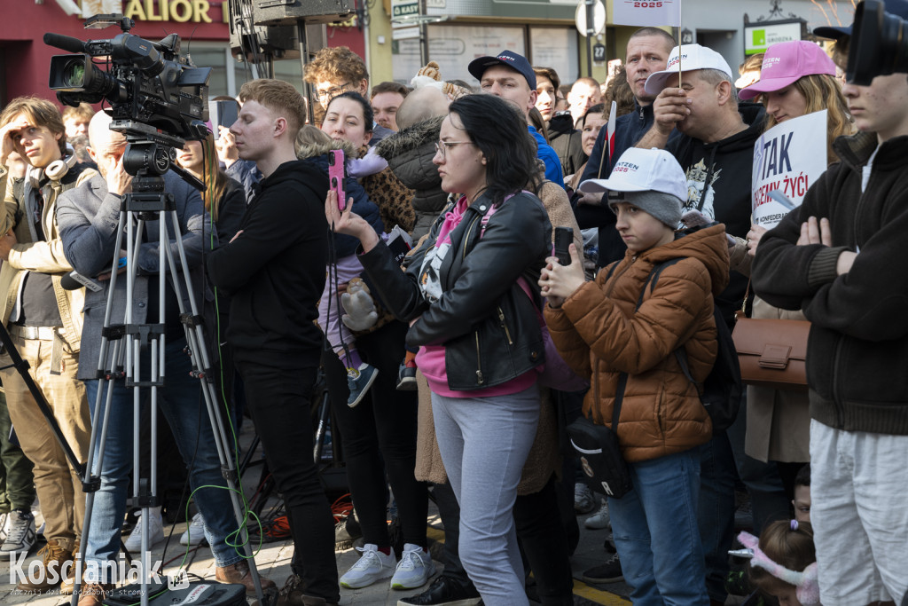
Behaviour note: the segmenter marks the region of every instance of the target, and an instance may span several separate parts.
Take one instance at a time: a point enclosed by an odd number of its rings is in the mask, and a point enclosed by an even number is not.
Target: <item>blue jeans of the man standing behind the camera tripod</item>
[[[165,348],[165,384],[158,390],[158,405],[173,432],[173,438],[183,461],[190,470],[189,483],[194,491],[199,486],[224,486],[221,462],[214,447],[212,425],[202,399],[199,380],[190,376],[192,361],[183,347],[184,338],[169,340]],[[143,350],[142,358],[148,363],[150,354]],[[146,364],[147,366],[147,364]],[[143,379],[148,378],[147,368]],[[97,380],[85,382],[85,392],[94,415],[94,402],[98,392]],[[126,513],[126,492],[129,474],[133,471],[133,388],[127,388],[124,381],[107,383],[114,389],[112,410],[107,427],[107,442],[104,444],[104,469],[101,470],[101,489],[94,493],[91,528],[88,532],[85,552],[85,567],[88,579],[110,581],[104,562],[113,561],[120,551],[120,531]],[[101,414],[107,395],[107,386],[102,393]],[[143,406],[147,404],[151,388],[142,388]],[[100,423],[92,419],[93,423]],[[95,435],[93,466],[97,462],[101,442],[101,427]],[[226,488],[202,488],[195,492],[195,504],[205,519],[205,538],[212,546],[217,566],[229,566],[242,560],[242,556],[224,541],[227,535],[237,530],[233,515],[230,493]],[[237,542],[236,536],[231,542]],[[99,575],[100,576],[97,576]],[[122,581],[122,580],[121,580]]]

